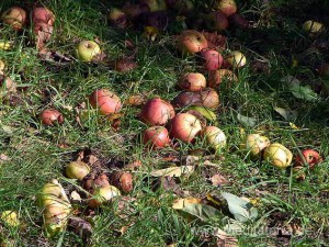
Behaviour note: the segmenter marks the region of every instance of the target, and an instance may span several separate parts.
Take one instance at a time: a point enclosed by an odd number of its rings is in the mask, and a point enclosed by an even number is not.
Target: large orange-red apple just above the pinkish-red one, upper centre
[[[207,47],[205,36],[195,30],[185,30],[178,37],[178,49],[183,54],[195,54]]]

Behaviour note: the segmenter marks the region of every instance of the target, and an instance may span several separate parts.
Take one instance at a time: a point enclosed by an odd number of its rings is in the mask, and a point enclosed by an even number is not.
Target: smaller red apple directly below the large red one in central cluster
[[[169,145],[169,132],[163,126],[151,126],[143,134],[143,143],[152,149],[162,148]]]

